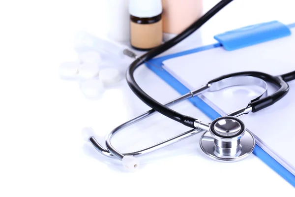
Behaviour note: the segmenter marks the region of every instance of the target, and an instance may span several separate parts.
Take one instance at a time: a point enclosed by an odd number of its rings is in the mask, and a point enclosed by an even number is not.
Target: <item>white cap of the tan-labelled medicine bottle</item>
[[[161,0],[129,0],[129,13],[140,18],[150,18],[162,13]]]

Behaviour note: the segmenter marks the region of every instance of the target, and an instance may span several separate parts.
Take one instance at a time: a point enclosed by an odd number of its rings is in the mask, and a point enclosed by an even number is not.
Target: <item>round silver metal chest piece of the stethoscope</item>
[[[249,156],[255,147],[254,136],[235,117],[215,119],[209,131],[200,139],[200,147],[211,159],[220,162],[236,162]]]

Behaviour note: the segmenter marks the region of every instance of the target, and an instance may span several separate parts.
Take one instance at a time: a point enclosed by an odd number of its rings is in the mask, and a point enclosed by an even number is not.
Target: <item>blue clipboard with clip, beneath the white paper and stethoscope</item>
[[[287,36],[288,34],[290,34],[289,29],[291,28],[295,28],[295,23],[286,26],[278,21],[272,21],[254,26],[248,26],[245,28],[214,36],[214,38],[219,41],[218,43],[155,58],[150,60],[149,62],[153,65],[162,67],[162,63],[165,60],[213,49],[216,47],[224,47],[226,50],[231,51],[238,48],[247,47],[253,44],[276,39],[279,37]],[[165,69],[159,69],[158,67],[151,66],[149,64],[146,64],[146,66],[155,74],[157,74],[161,79],[167,82],[171,87],[173,87],[179,94],[184,95],[190,91],[186,86],[179,82]],[[212,120],[221,116],[199,97],[191,98],[189,99],[189,101],[192,102],[194,106],[199,108]],[[264,163],[266,163],[269,167],[271,167],[275,172],[277,172],[280,176],[282,176],[286,181],[288,181],[293,187],[295,187],[295,175],[288,171],[283,165],[279,164],[276,160],[274,160],[259,145],[256,144],[253,153],[257,157],[259,157]]]

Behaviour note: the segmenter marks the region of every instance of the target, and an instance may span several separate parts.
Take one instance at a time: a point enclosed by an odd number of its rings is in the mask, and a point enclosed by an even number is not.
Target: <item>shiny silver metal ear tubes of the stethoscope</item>
[[[200,94],[207,92],[207,91],[214,92],[214,91],[219,91],[224,88],[238,86],[238,85],[257,85],[257,86],[263,88],[264,89],[263,94],[261,94],[256,99],[266,97],[266,95],[267,95],[267,84],[264,80],[257,78],[257,77],[252,77],[252,76],[235,76],[235,77],[226,78],[226,79],[214,82],[214,83],[203,85],[194,91],[190,91],[187,94],[166,103],[165,106],[172,106],[182,100],[193,98],[193,97],[200,95]],[[243,107],[239,110],[236,110],[236,111],[228,114],[227,116],[239,117],[243,114],[249,113],[251,110],[252,110],[251,106],[248,105],[246,107]],[[89,137],[89,141],[95,147],[95,149],[98,152],[100,152],[101,154],[103,154],[107,157],[110,157],[110,158],[118,158],[119,160],[122,160],[124,156],[138,156],[138,155],[148,154],[148,153],[153,152],[155,150],[158,150],[158,149],[161,149],[161,148],[166,147],[168,145],[174,144],[182,139],[193,136],[193,135],[200,133],[202,131],[208,131],[207,124],[204,124],[204,123],[201,123],[200,121],[198,121],[198,122],[196,122],[196,129],[192,129],[192,130],[183,132],[177,136],[174,136],[172,138],[169,138],[167,140],[164,140],[160,143],[157,143],[153,146],[150,146],[148,148],[145,148],[145,149],[142,149],[139,151],[135,151],[135,152],[131,152],[131,153],[120,153],[118,150],[116,150],[112,146],[111,139],[118,131],[120,131],[120,130],[134,124],[134,123],[137,123],[138,121],[148,118],[149,116],[153,115],[155,112],[156,111],[154,109],[151,109],[151,110],[133,118],[132,120],[118,126],[113,131],[111,131],[106,137],[107,150],[104,149],[96,141],[96,139],[93,136]],[[200,126],[200,124],[201,124],[201,126]]]

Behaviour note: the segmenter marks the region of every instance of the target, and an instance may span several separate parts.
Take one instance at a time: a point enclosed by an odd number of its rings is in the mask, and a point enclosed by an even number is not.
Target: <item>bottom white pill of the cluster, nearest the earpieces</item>
[[[103,83],[98,79],[81,82],[80,89],[87,99],[100,99],[104,92]]]

